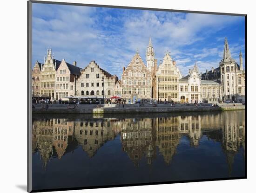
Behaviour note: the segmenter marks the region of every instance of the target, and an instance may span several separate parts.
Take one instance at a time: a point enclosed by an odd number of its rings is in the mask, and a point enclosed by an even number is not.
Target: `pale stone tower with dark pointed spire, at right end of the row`
[[[223,59],[219,63],[221,70],[222,100],[236,100],[236,71],[238,64],[231,58],[227,38],[224,40]]]

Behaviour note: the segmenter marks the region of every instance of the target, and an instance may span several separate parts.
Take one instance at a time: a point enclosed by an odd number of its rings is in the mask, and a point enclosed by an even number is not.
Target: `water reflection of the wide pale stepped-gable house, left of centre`
[[[74,125],[74,136],[89,157],[93,157],[104,143],[115,139],[110,121],[76,121]]]

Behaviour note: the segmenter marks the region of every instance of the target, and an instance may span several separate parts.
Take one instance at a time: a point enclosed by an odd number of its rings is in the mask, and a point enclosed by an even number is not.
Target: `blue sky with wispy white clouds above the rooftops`
[[[43,62],[47,48],[54,58],[84,68],[94,60],[121,78],[136,50],[146,64],[149,37],[159,65],[169,51],[186,76],[195,61],[199,70],[218,67],[227,37],[231,57],[244,64],[245,18],[201,13],[69,6],[33,3],[32,60]],[[34,66],[34,65],[33,65]]]

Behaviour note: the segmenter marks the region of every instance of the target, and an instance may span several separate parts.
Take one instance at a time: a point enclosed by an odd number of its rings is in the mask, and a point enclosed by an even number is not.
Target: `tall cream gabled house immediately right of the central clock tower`
[[[153,78],[153,98],[161,101],[179,101],[179,79],[182,77],[170,53],[165,52],[163,61]]]

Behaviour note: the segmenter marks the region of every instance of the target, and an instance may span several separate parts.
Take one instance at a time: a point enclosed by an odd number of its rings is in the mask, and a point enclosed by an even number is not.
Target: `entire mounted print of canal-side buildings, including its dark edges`
[[[28,192],[247,177],[246,15],[28,1]]]

